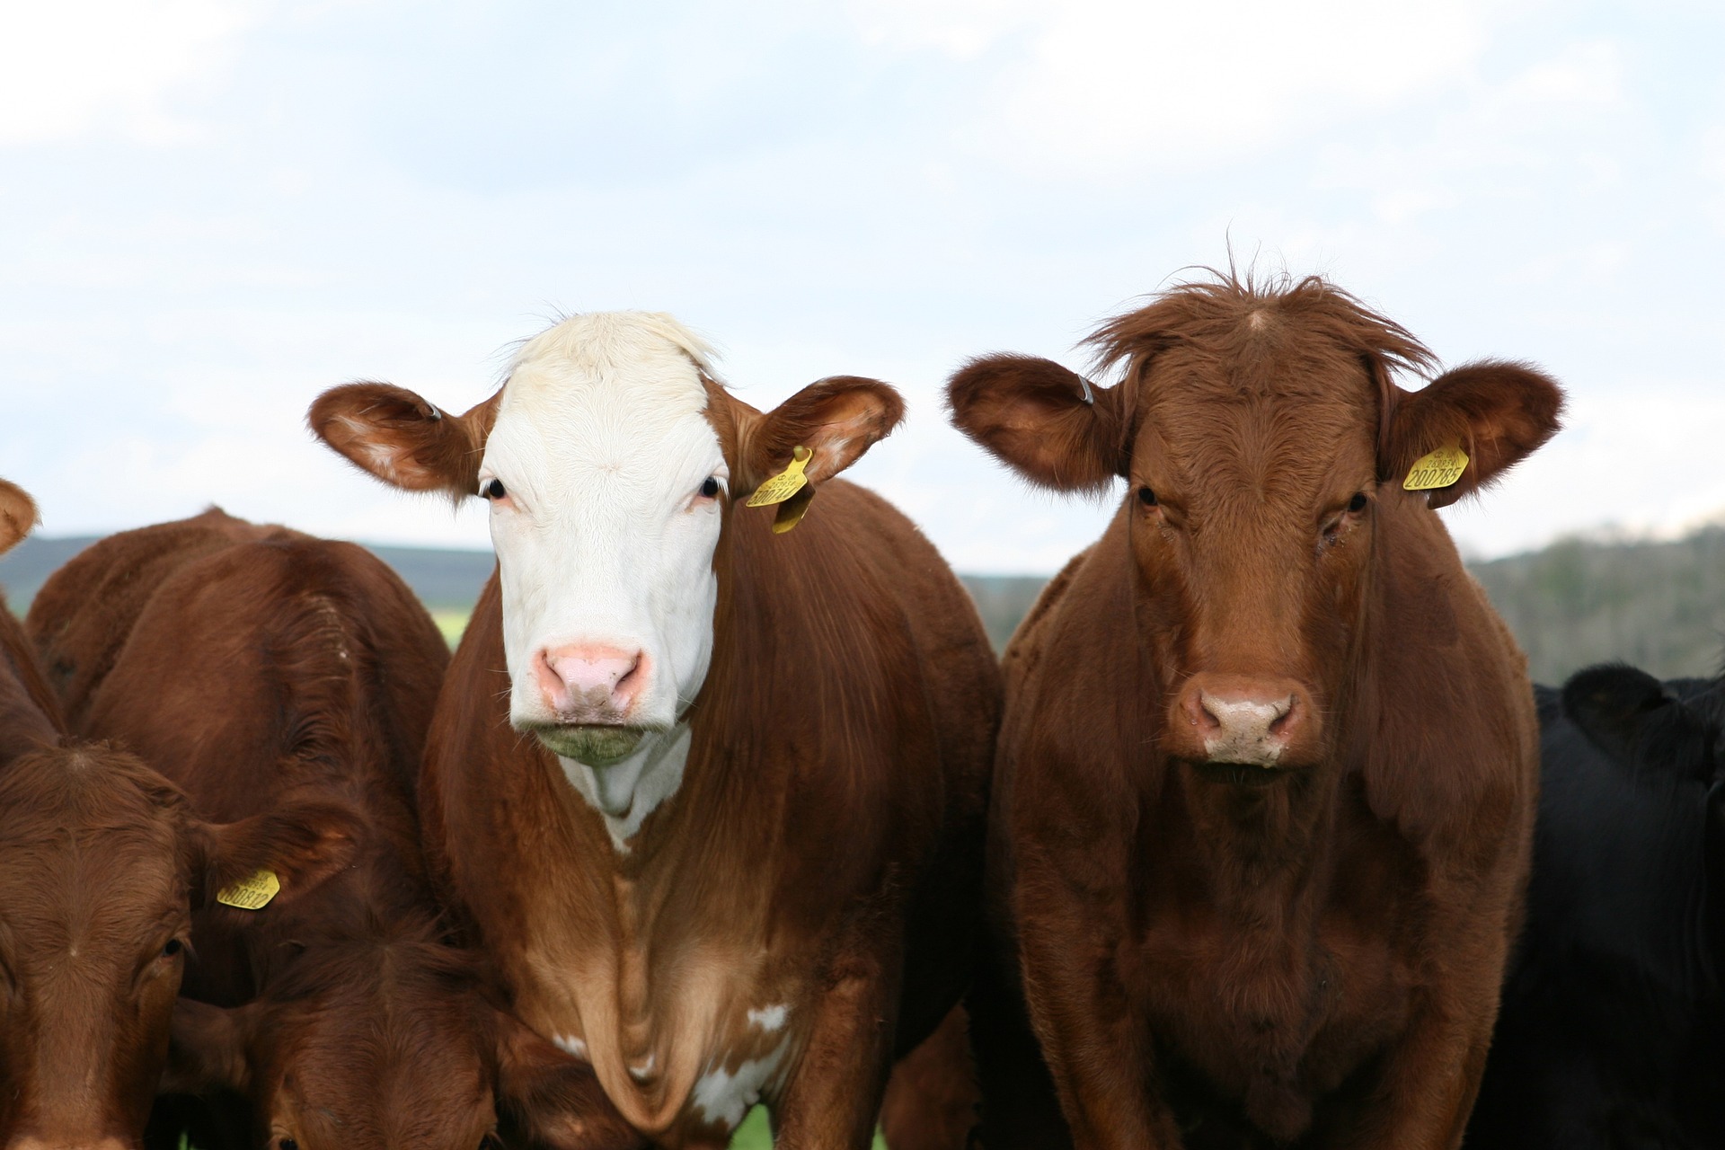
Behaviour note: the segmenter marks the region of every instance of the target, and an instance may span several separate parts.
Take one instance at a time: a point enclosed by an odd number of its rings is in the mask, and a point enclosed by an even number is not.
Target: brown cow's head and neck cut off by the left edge
[[[0,552],[34,507],[0,481]],[[326,803],[204,822],[167,779],[62,736],[0,598],[0,1147],[136,1147],[167,1055],[191,907],[273,867],[288,891],[345,864]]]

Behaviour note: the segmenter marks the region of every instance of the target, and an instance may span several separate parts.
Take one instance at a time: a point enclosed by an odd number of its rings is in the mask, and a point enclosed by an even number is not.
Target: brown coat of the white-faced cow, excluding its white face
[[[890,388],[826,379],[766,414],[712,381],[707,397],[733,498],[795,445],[814,452],[821,495],[781,536],[771,510],[726,505],[681,788],[619,853],[557,760],[509,728],[493,574],[431,728],[428,853],[519,1016],[581,1038],[656,1143],[723,1145],[693,1083],[785,1040],[768,1098],[778,1145],[866,1147],[892,1059],[968,978],[999,676],[933,547],[875,495],[826,481],[899,421]],[[336,390],[312,422],[357,422],[366,402]],[[393,464],[367,460],[423,434],[381,426],[335,447],[388,479]],[[783,1033],[747,1019],[769,1003],[788,1007]],[[721,1067],[709,1050],[726,1052]]]

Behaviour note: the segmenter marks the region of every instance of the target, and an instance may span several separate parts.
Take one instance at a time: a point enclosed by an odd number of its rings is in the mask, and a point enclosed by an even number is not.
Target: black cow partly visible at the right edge
[[[1537,688],[1521,948],[1470,1150],[1725,1147],[1725,679]]]

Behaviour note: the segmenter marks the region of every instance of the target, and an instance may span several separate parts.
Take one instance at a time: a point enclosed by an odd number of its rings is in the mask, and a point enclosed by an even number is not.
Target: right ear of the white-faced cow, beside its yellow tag
[[[790,466],[799,447],[809,448],[802,474],[809,483],[831,479],[887,438],[904,419],[899,391],[880,379],[831,376],[811,383],[769,412],[735,409],[737,474],[731,495],[750,495]]]

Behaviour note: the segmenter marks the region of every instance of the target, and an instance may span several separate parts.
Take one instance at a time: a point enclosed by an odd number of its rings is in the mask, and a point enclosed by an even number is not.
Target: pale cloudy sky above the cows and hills
[[[209,502],[485,545],[317,448],[324,386],[483,398],[555,310],[674,312],[769,405],[911,422],[857,478],[969,571],[1097,505],[938,407],[966,355],[1080,366],[1190,264],[1320,271],[1571,428],[1451,516],[1475,553],[1725,514],[1716,3],[0,0],[0,474],[43,531]]]

